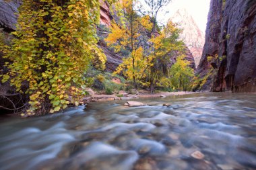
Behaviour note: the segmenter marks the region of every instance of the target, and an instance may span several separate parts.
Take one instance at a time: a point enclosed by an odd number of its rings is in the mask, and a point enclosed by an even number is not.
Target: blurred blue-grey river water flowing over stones
[[[108,101],[2,119],[0,169],[256,169],[256,94],[137,101],[147,105]]]

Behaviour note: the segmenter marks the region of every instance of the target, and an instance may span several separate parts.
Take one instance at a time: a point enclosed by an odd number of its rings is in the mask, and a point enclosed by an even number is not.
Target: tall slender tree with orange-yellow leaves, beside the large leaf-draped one
[[[129,56],[123,59],[115,73],[123,73],[125,77],[133,81],[133,86],[137,88],[137,79],[146,65],[146,58],[143,55],[143,32],[150,30],[152,24],[149,17],[141,17],[134,7],[137,1],[123,0],[117,3],[120,21],[113,23],[110,27],[110,34],[105,39],[109,46],[113,46],[116,52],[128,50]]]

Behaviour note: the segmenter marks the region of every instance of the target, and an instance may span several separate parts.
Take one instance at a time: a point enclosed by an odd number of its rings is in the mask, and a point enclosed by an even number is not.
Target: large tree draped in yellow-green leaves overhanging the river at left
[[[30,108],[22,116],[78,105],[92,60],[98,58],[96,65],[104,69],[106,56],[96,44],[99,17],[98,0],[23,1],[17,38],[5,56],[9,73],[2,75],[2,82],[29,95]]]

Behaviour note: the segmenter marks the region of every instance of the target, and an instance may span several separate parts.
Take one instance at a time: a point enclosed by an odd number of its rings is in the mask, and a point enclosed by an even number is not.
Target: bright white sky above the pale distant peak
[[[143,1],[143,0],[139,0]],[[202,32],[205,32],[207,15],[210,9],[210,0],[172,0],[158,17],[158,21],[166,23],[168,19],[178,10],[187,9]],[[169,11],[166,13],[166,11]]]

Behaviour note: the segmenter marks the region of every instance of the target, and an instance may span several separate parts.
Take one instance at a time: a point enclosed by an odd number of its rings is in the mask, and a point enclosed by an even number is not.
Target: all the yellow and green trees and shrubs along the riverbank
[[[109,75],[104,73],[106,56],[97,45],[99,1],[24,0],[13,39],[7,44],[3,35],[0,37],[6,60],[1,83],[9,83],[26,96],[22,116],[79,105],[86,87],[97,89],[95,81],[100,81],[100,88],[108,94],[115,92],[113,86],[117,90],[150,89],[151,93],[156,87],[189,91],[193,69],[182,54],[182,30],[172,22],[165,26],[157,23],[158,11],[169,2],[146,0],[147,11],[135,0],[108,1],[118,19],[113,20],[105,41],[115,52],[125,54],[123,63]],[[177,62],[172,65],[174,57]],[[118,75],[125,77],[121,85],[110,81]]]

